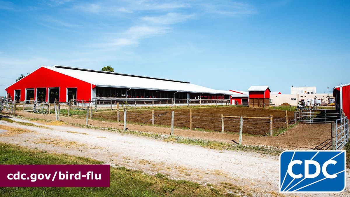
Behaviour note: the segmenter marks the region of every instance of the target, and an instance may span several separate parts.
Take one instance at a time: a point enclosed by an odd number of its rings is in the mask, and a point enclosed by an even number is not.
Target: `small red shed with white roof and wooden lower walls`
[[[265,107],[270,103],[270,88],[268,86],[251,86],[249,93],[249,107]]]

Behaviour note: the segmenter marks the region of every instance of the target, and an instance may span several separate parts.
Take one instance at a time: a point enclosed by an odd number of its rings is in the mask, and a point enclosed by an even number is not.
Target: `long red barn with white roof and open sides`
[[[136,99],[229,100],[232,92],[189,82],[67,66],[42,66],[5,89],[17,101]],[[169,102],[170,103],[170,102]]]

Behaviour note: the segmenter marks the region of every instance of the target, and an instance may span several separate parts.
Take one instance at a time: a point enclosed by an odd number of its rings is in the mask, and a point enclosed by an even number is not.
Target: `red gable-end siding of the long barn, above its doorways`
[[[26,77],[12,84],[6,89],[7,94],[15,99],[14,91],[21,90],[21,101],[25,100],[26,88],[34,88],[34,99],[36,100],[36,88],[46,88],[46,101],[48,99],[48,88],[59,87],[59,102],[66,102],[66,88],[77,88],[78,100],[91,99],[91,88],[95,86],[91,83],[73,78],[62,73],[41,67],[30,73]]]

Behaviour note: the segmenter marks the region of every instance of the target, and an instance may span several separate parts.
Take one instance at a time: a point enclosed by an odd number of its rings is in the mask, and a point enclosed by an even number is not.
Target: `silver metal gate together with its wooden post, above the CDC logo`
[[[349,140],[348,117],[337,119],[331,124],[332,128],[332,150],[341,150]]]

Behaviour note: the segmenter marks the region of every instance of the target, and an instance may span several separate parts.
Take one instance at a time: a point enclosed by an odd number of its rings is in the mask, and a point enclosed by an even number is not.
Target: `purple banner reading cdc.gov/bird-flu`
[[[109,165],[0,165],[1,187],[109,187]]]

